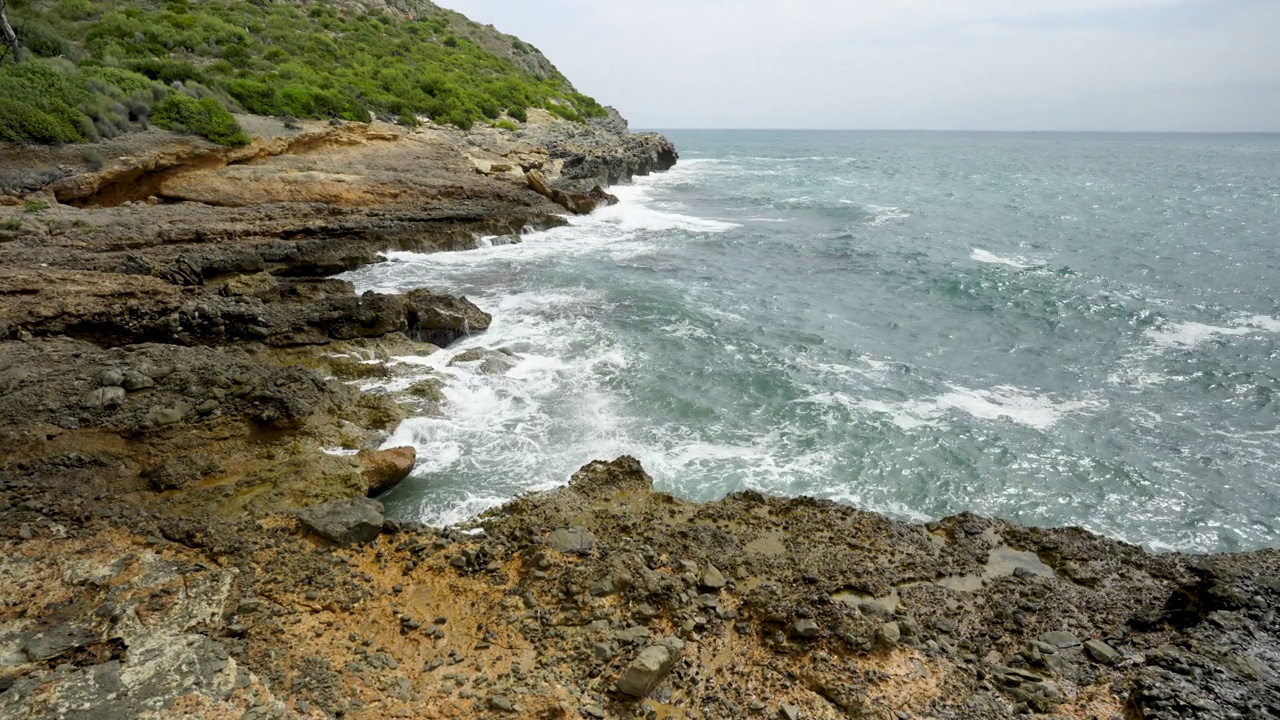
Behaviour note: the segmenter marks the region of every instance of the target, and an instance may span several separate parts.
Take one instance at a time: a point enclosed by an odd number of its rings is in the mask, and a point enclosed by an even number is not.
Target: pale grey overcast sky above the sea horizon
[[[1280,0],[440,0],[644,128],[1280,131]]]

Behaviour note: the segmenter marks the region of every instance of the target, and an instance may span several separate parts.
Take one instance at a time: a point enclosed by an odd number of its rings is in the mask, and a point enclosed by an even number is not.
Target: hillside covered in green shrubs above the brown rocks
[[[224,110],[463,129],[605,115],[535,47],[425,0],[19,0],[9,19],[23,61],[0,67],[0,141],[155,123],[246,143]]]

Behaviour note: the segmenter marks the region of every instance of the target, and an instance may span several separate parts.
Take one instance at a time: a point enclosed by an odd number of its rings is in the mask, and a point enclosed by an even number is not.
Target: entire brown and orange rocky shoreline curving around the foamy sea
[[[242,122],[0,146],[0,717],[1280,716],[1277,551],[695,505],[630,457],[385,519],[415,457],[379,445],[439,388],[343,380],[490,318],[333,275],[518,241],[675,149]]]

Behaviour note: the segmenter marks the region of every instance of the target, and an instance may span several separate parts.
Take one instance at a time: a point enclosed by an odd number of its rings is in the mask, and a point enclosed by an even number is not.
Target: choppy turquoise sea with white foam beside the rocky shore
[[[448,402],[388,443],[420,452],[394,512],[626,452],[695,500],[1280,546],[1280,136],[668,135],[618,206],[351,274],[497,316],[406,359]]]

